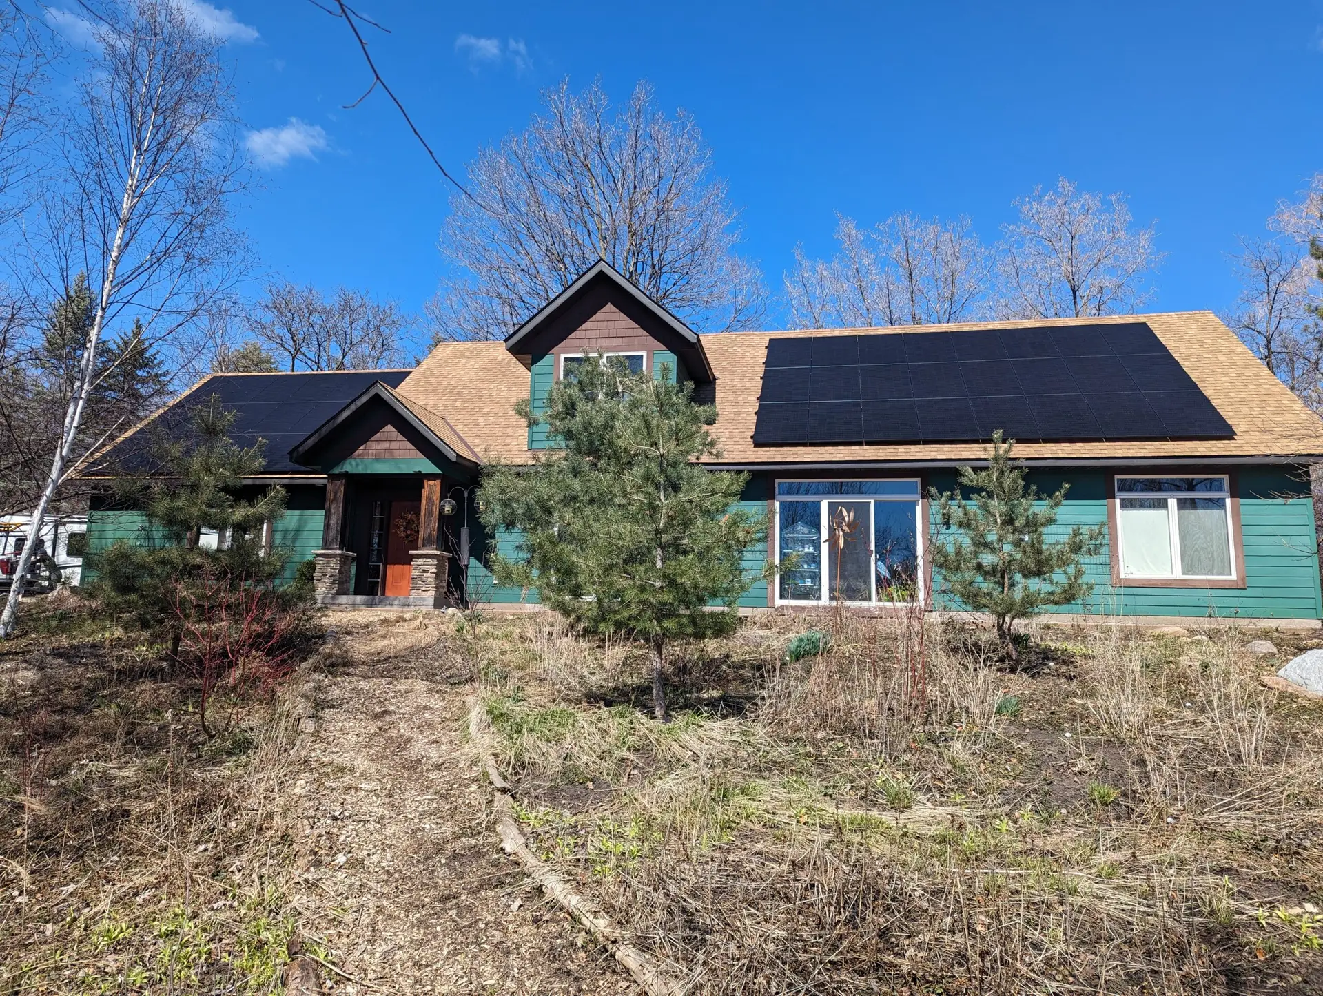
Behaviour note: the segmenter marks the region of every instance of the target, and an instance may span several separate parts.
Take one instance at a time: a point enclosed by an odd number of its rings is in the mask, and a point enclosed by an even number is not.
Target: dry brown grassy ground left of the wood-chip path
[[[291,700],[232,701],[206,739],[191,683],[71,611],[0,657],[0,992],[273,991]]]

